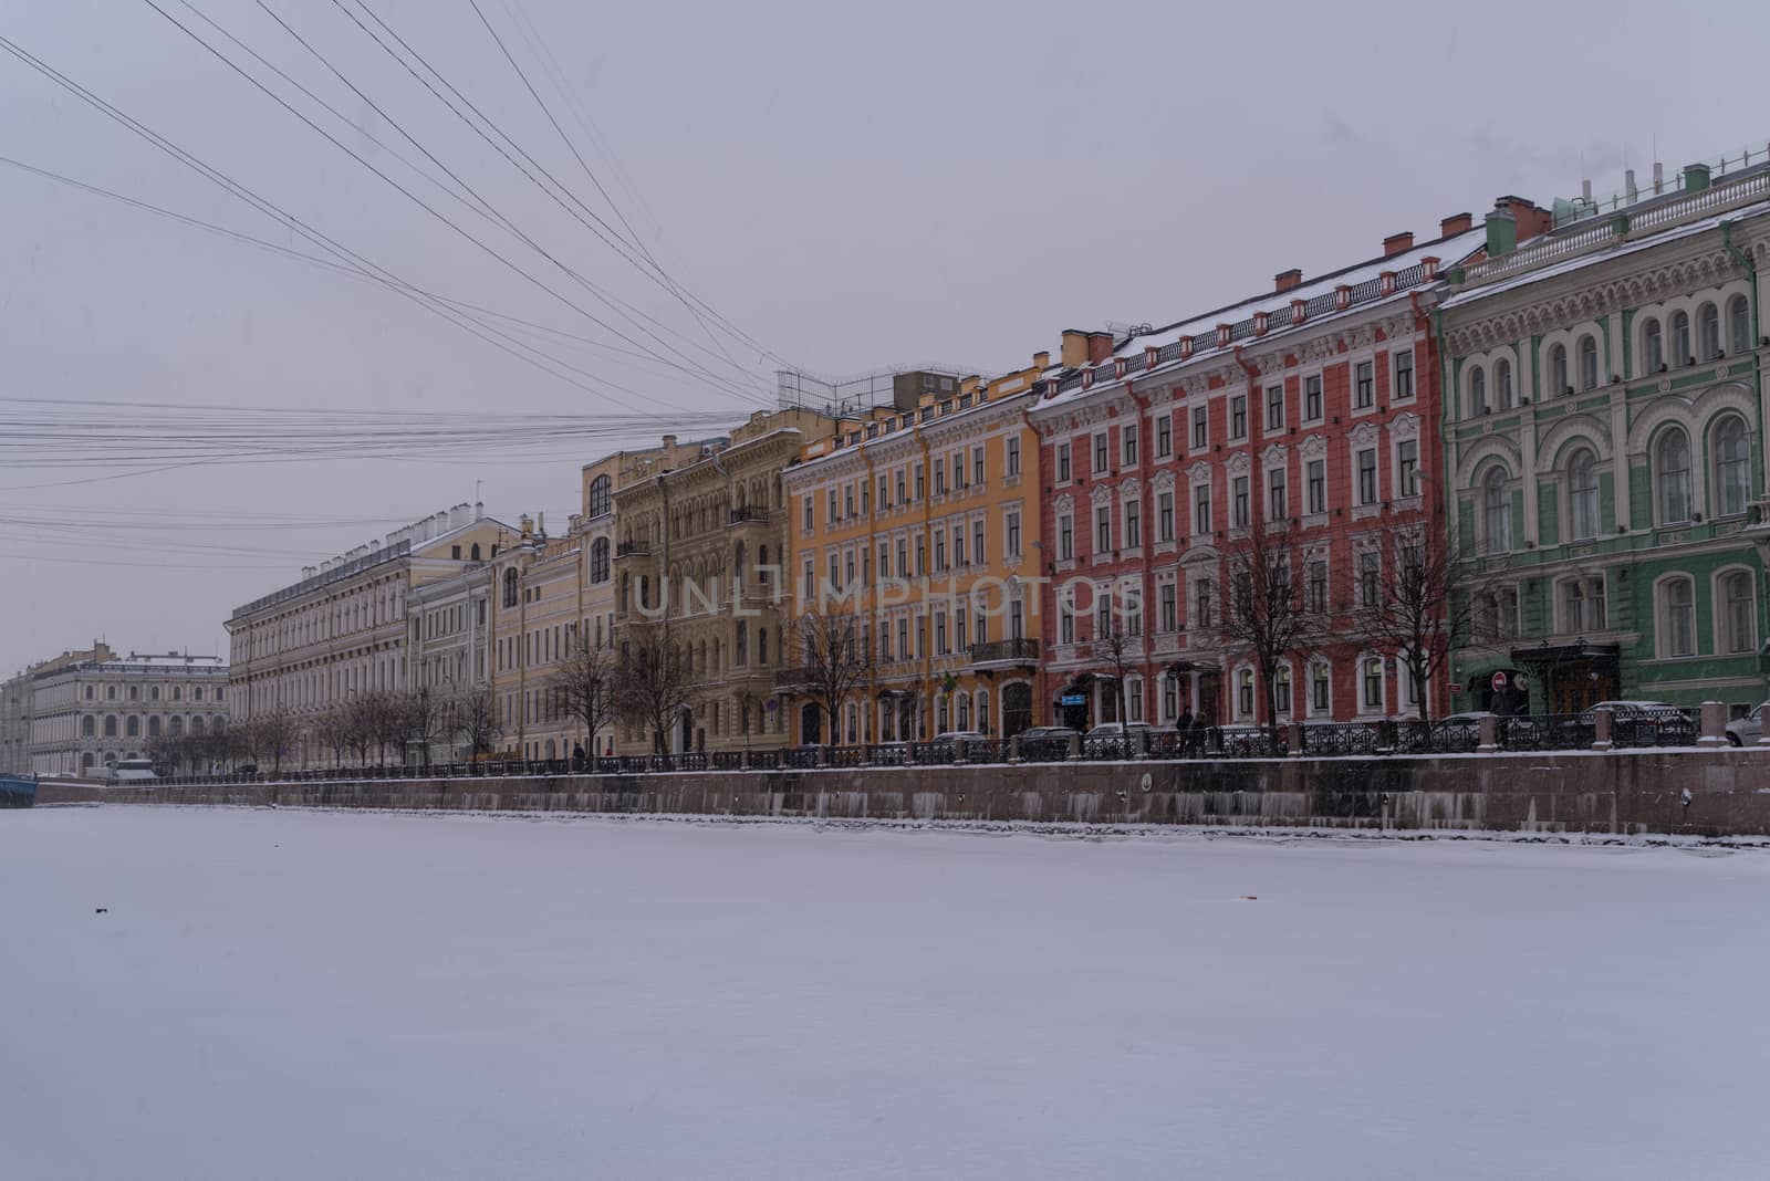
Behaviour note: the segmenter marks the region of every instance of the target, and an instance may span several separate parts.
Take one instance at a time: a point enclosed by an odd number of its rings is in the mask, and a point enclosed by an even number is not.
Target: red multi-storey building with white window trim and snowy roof
[[[1503,198],[1520,237],[1536,210]],[[1411,714],[1411,677],[1354,628],[1428,520],[1443,525],[1439,278],[1485,246],[1471,216],[1437,239],[1115,339],[1066,332],[1030,421],[1043,513],[1050,721],[1205,723]],[[1331,638],[1287,654],[1276,720],[1246,645],[1225,636],[1250,550],[1289,559]],[[1243,555],[1237,559],[1237,555]],[[1241,562],[1241,564],[1237,564]],[[1430,686],[1434,714],[1448,686]]]

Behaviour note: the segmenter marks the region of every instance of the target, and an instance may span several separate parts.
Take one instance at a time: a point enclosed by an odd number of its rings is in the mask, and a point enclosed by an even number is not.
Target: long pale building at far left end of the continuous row
[[[287,711],[310,723],[356,693],[411,688],[407,596],[428,582],[490,562],[517,530],[458,504],[384,539],[303,571],[297,583],[237,608],[232,638],[235,716]],[[303,725],[306,730],[306,725]],[[285,766],[320,766],[303,734]]]

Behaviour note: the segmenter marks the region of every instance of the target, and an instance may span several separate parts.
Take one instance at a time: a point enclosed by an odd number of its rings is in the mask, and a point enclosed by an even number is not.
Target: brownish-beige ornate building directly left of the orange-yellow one
[[[673,751],[784,741],[775,698],[786,550],[781,472],[834,428],[820,410],[756,412],[727,444],[706,446],[674,470],[639,472],[614,491],[616,628],[637,638],[660,629],[701,686],[697,704],[671,723]],[[646,753],[651,741],[643,727],[621,725],[616,753]]]

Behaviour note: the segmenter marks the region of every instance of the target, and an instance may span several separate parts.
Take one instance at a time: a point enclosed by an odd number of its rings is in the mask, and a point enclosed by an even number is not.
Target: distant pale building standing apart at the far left
[[[228,667],[219,656],[117,656],[99,644],[34,665],[30,766],[81,774],[145,758],[159,737],[202,737],[228,725]]]

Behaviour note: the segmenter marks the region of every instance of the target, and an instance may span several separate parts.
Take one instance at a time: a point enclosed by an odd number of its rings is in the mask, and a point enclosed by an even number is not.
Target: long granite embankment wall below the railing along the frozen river
[[[1258,758],[506,780],[44,785],[159,804],[1770,834],[1770,751]]]

